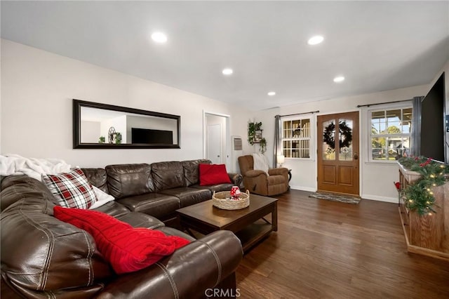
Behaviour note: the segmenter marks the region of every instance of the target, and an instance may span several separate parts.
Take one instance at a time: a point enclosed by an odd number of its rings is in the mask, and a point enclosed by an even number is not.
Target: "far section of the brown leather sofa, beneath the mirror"
[[[118,164],[106,168],[82,168],[92,185],[115,197],[126,207],[114,211],[110,205],[100,211],[119,215],[123,211],[142,212],[174,225],[178,208],[197,204],[212,198],[212,192],[231,190],[240,185],[242,177],[228,173],[231,184],[199,185],[199,164],[210,160],[168,161],[153,164]]]

